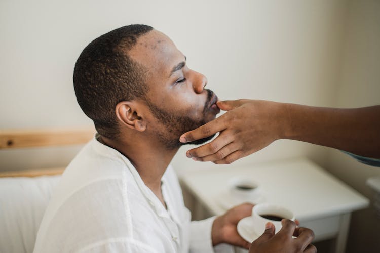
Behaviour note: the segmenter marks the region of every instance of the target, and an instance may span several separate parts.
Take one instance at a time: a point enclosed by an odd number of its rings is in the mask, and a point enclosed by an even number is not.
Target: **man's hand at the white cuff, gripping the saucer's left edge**
[[[253,204],[244,203],[231,208],[224,215],[217,217],[212,224],[212,244],[228,243],[248,249],[250,243],[238,234],[236,226],[241,219],[252,214],[252,207]]]

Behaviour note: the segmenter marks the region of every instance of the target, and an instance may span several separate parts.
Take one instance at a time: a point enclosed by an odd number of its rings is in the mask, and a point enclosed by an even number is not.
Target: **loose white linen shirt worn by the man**
[[[63,173],[33,252],[213,252],[214,218],[190,222],[170,165],[162,193],[167,209],[124,155],[94,138]]]

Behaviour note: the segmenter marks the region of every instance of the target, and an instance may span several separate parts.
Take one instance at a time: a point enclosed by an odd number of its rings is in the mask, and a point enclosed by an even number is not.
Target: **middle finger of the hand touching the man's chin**
[[[204,144],[200,147],[188,150],[186,152],[186,156],[198,158],[198,157],[204,157],[204,156],[215,154],[218,151],[220,151],[220,149],[222,149],[224,146],[230,144],[232,142],[232,139],[233,139],[232,136],[225,134],[225,131],[223,131],[222,133],[219,134],[218,137],[216,137],[211,142]],[[225,156],[219,158],[218,160],[224,158]]]

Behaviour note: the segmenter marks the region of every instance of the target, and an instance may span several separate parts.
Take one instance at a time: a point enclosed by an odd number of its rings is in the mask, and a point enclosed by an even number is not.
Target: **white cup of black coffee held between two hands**
[[[275,217],[279,219],[274,220]],[[257,204],[252,208],[253,230],[258,235],[261,235],[264,232],[265,225],[268,222],[271,222],[273,225],[275,225],[277,233],[282,227],[282,219],[289,219],[294,221],[293,212],[291,212],[289,209],[286,209],[285,207],[271,203]]]

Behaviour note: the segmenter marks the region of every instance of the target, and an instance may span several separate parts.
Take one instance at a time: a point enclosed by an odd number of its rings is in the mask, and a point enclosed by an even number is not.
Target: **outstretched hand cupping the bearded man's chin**
[[[248,99],[219,101],[217,106],[226,113],[183,134],[179,140],[191,142],[220,132],[210,143],[188,150],[186,156],[216,164],[232,163],[281,138],[286,120],[281,105]]]

